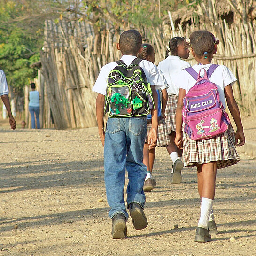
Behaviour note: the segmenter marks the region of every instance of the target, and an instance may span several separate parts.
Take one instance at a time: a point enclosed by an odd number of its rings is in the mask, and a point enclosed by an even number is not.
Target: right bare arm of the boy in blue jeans
[[[157,126],[158,126],[158,120],[157,120],[157,103],[158,103],[158,97],[157,97],[157,92],[155,90],[155,86],[151,86],[152,90],[152,95],[153,95],[153,100],[154,100],[154,105],[155,108],[151,109],[151,115],[152,115],[152,128],[148,133],[148,140],[147,144],[148,149],[152,149],[156,146],[156,141],[157,141]]]

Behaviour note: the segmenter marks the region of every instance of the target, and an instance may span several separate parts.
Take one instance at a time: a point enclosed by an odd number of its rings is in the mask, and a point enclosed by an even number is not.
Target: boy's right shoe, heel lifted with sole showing
[[[140,204],[132,202],[128,205],[128,208],[130,210],[130,215],[134,228],[136,230],[140,230],[147,227],[147,218]]]

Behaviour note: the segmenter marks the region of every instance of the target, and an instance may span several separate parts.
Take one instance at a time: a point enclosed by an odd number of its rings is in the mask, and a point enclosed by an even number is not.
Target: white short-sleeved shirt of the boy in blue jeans
[[[121,60],[127,66],[129,66],[135,58],[137,57],[132,55],[123,55]],[[116,66],[116,62],[110,62],[101,68],[99,76],[93,86],[93,92],[106,95],[107,78],[109,76],[110,71],[113,70]],[[155,89],[159,89],[161,85],[163,86],[167,84],[166,80],[163,80],[163,78],[161,78],[155,64],[153,64],[152,62],[142,60],[139,63],[139,66],[144,70],[147,82],[150,83],[150,85],[155,85]]]

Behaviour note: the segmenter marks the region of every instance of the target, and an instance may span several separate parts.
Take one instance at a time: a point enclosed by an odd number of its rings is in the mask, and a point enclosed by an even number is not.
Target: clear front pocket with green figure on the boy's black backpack
[[[109,116],[120,117],[132,114],[131,88],[129,85],[112,85],[107,91]]]

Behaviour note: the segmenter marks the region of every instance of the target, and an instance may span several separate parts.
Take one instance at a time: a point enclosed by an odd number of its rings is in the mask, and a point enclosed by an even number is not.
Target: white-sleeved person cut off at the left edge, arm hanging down
[[[7,86],[4,71],[0,70],[0,96],[1,96],[1,99],[2,99],[2,101],[3,101],[3,103],[6,107],[6,110],[7,110],[11,129],[15,130],[16,121],[15,121],[13,115],[12,115],[8,93],[9,93],[9,90],[8,90],[8,86]]]

